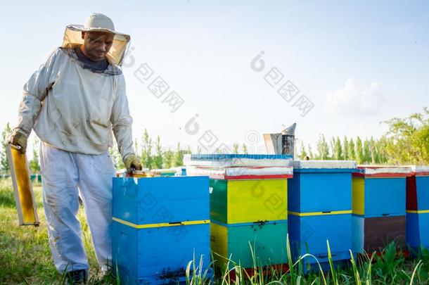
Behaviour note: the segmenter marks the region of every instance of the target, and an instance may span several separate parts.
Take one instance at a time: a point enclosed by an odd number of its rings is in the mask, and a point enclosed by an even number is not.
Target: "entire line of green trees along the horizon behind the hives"
[[[306,157],[314,160],[356,160],[359,164],[393,164],[393,165],[429,165],[429,108],[423,108],[421,113],[414,113],[407,118],[392,118],[385,122],[388,132],[378,139],[361,137],[331,137],[326,139],[323,134],[319,137],[314,150],[310,145],[305,146],[302,141],[297,156],[300,159]],[[1,132],[0,167],[2,173],[9,170],[6,158],[6,144],[11,127],[6,127]],[[33,141],[30,169],[33,173],[40,171],[39,144],[37,137]],[[180,143],[175,148],[164,148],[160,137],[153,139],[147,129],[141,139],[134,141],[134,148],[139,154],[143,167],[170,168],[183,165],[184,154],[192,153],[188,147],[184,149]],[[217,149],[215,153],[224,150]],[[116,169],[124,168],[117,146],[109,149],[110,156]],[[195,153],[201,153],[198,147]],[[233,144],[233,153],[248,153],[245,144]]]

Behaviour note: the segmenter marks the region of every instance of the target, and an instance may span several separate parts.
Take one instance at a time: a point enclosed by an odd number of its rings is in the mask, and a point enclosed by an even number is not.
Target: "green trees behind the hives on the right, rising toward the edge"
[[[322,134],[316,149],[300,144],[301,159],[356,160],[359,164],[429,165],[429,108],[407,118],[384,121],[388,132],[379,139],[333,137]]]

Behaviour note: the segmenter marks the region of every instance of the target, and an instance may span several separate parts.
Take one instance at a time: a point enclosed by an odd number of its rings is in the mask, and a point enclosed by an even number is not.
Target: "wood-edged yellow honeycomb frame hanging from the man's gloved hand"
[[[30,171],[28,169],[27,157],[20,152],[20,146],[8,144],[6,146],[9,167],[15,194],[16,208],[20,226],[39,226],[36,203],[30,182]]]

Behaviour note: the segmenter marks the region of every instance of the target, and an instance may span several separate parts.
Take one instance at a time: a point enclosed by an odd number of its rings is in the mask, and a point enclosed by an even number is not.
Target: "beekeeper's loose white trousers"
[[[82,197],[96,258],[101,270],[112,259],[112,177],[108,153],[85,155],[41,143],[40,167],[49,246],[56,269],[63,273],[89,268],[77,220]]]

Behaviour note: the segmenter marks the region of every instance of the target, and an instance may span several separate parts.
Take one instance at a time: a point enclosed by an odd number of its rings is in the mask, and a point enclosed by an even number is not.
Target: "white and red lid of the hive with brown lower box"
[[[411,167],[395,165],[359,165],[354,175],[364,177],[408,177]]]

